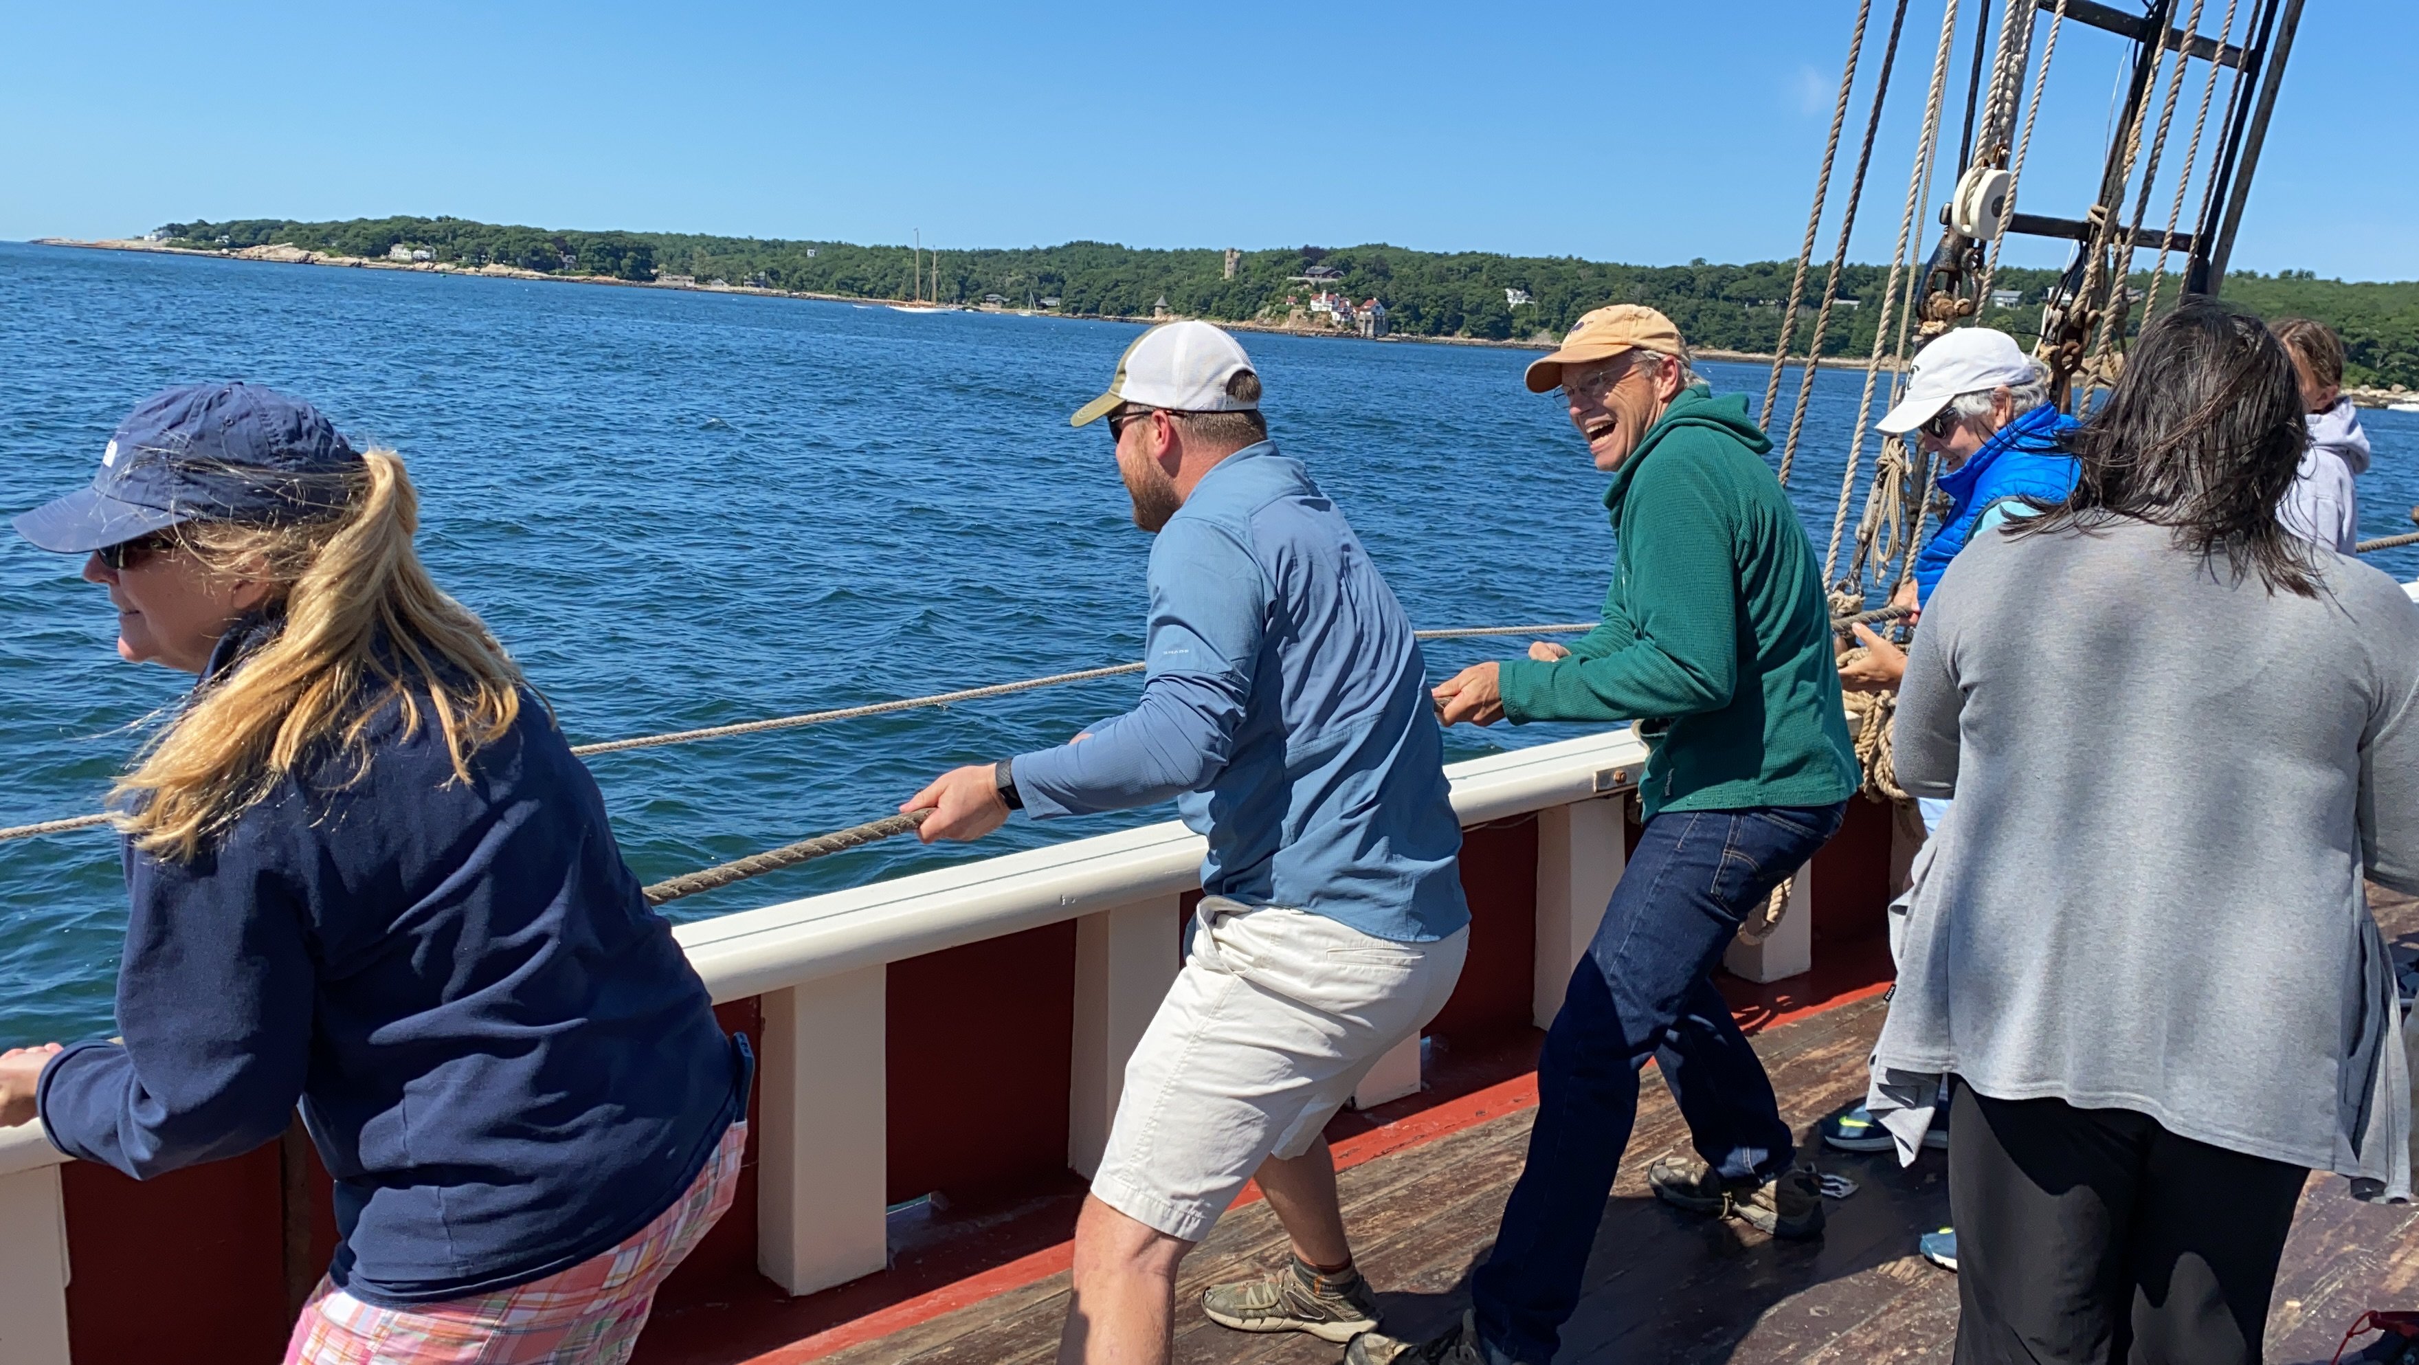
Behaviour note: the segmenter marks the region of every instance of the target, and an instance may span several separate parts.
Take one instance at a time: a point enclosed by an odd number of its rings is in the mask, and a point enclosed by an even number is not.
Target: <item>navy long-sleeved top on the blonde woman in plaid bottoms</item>
[[[276,622],[230,634],[215,678]],[[191,862],[126,849],[123,1043],[41,1075],[63,1152],[135,1179],[302,1121],[329,1275],[414,1304],[568,1268],[672,1205],[750,1062],[537,697],[464,784],[428,716],[283,782]]]

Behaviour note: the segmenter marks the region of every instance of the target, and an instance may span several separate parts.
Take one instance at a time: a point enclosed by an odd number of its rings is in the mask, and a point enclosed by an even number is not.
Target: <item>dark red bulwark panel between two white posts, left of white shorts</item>
[[[1067,1169],[1074,920],[890,963],[888,1200]]]

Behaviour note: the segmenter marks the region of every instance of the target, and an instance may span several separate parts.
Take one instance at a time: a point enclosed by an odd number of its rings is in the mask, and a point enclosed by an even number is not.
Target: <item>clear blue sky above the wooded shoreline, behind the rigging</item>
[[[2223,7],[2206,0],[2204,29]],[[1940,12],[1913,0],[1858,259],[1894,244]],[[1771,259],[1805,227],[1851,17],[1851,0],[19,2],[0,237],[455,213],[943,247]],[[2027,208],[2078,213],[2117,68],[2117,39],[2068,24]],[[2238,266],[2419,276],[2414,85],[2419,2],[2310,0]]]

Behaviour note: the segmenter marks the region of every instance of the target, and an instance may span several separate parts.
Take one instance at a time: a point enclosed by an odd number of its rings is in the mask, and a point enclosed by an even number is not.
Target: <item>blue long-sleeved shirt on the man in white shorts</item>
[[[1396,941],[1468,925],[1410,617],[1299,460],[1260,443],[1151,547],[1142,702],[1014,762],[1033,816],[1176,799],[1202,888]]]

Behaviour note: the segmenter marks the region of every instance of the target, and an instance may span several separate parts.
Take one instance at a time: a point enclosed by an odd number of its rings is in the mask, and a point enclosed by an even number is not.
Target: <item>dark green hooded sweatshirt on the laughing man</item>
[[[1502,666],[1514,724],[1669,721],[1638,782],[1647,816],[1829,806],[1860,782],[1822,571],[1771,448],[1747,399],[1681,390],[1604,494],[1604,624],[1570,658]]]

